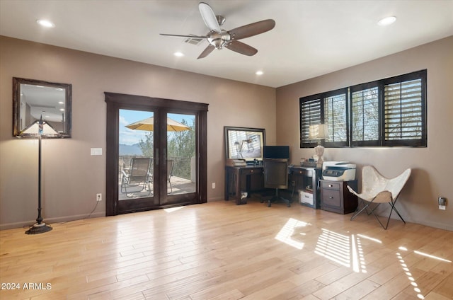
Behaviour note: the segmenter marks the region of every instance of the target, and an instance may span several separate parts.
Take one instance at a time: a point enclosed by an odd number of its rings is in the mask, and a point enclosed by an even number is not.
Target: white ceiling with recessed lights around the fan
[[[225,30],[268,18],[275,28],[241,40],[258,49],[253,57],[224,49],[197,59],[207,41],[159,35],[206,35],[197,0],[0,0],[0,35],[270,87],[453,35],[453,0],[205,2],[226,18]],[[398,19],[377,25],[385,16]],[[55,28],[40,28],[38,18]]]

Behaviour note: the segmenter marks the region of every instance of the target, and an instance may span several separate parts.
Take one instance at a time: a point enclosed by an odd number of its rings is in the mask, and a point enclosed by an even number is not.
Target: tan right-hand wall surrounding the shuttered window
[[[406,221],[453,230],[453,36],[277,88],[277,144],[291,146],[292,163],[314,154],[299,149],[300,97],[420,69],[428,69],[427,148],[325,149],[324,160],[373,165],[387,177],[412,168],[399,211]],[[448,200],[445,211],[437,207],[440,195]]]

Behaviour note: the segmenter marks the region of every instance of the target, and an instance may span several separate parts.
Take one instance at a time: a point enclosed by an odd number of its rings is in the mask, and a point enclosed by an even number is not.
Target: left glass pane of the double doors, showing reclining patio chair
[[[149,201],[154,197],[154,113],[120,109],[119,115],[118,200]]]

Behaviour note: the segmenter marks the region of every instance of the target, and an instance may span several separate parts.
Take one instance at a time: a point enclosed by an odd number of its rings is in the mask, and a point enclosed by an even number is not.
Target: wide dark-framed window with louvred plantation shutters
[[[326,124],[326,147],[428,146],[427,71],[300,98],[301,148],[316,146],[309,125]]]

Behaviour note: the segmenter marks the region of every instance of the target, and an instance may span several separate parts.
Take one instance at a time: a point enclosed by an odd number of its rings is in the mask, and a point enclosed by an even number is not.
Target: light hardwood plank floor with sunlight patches
[[[0,231],[0,299],[453,299],[452,231],[349,218],[252,199]]]

